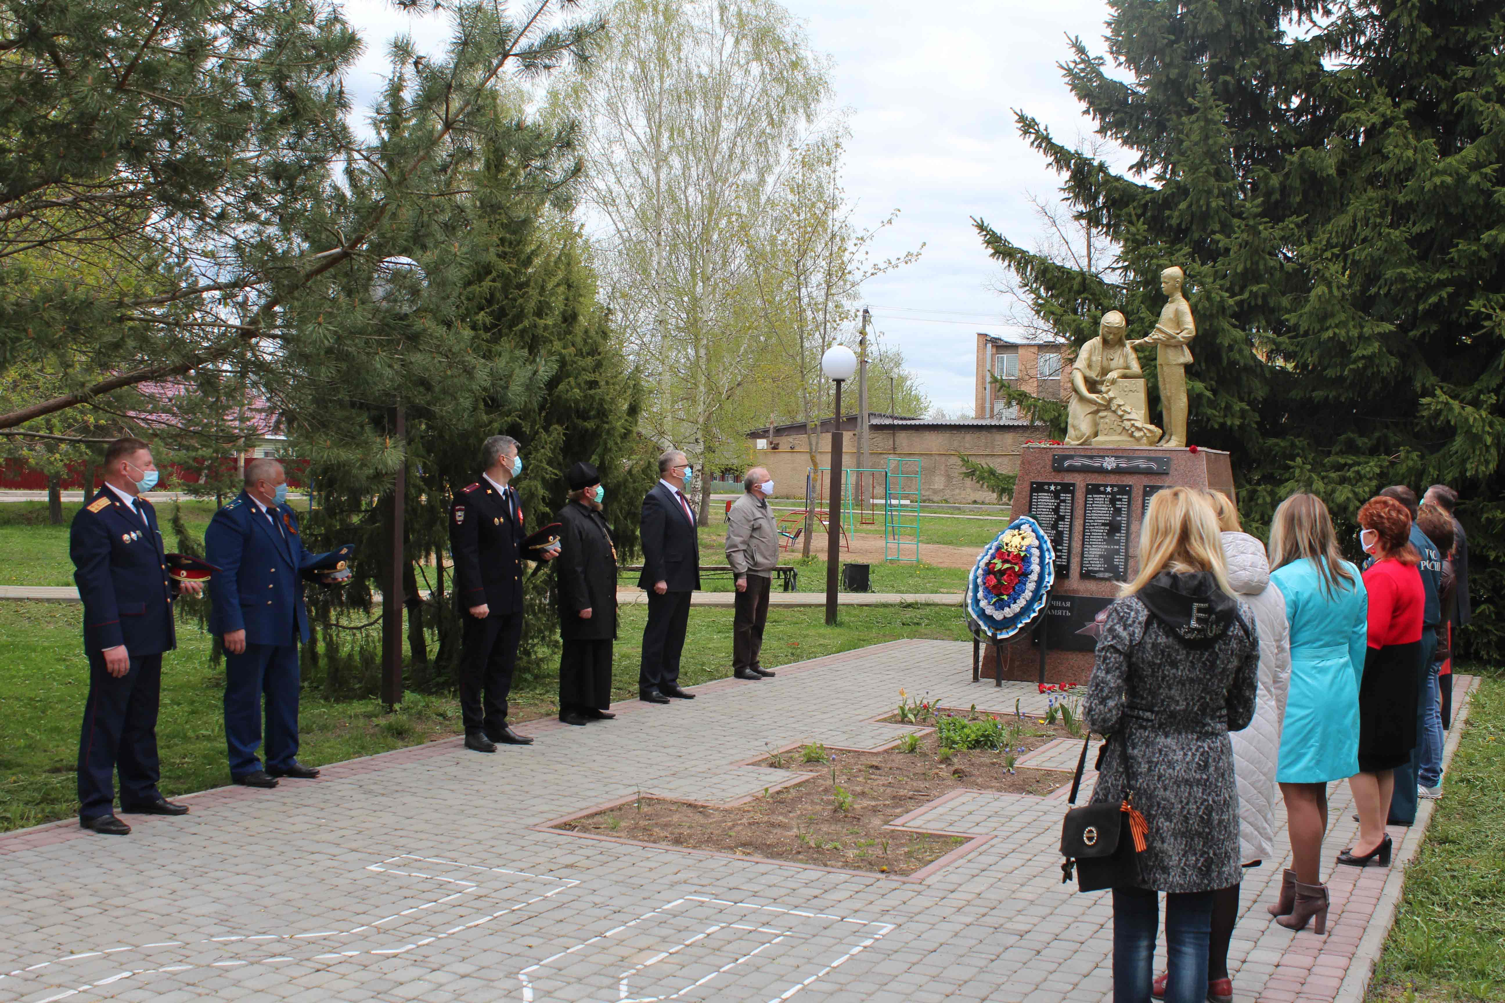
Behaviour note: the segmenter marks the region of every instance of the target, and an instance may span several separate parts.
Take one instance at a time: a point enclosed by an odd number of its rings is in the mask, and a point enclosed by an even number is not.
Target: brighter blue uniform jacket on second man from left
[[[220,568],[209,576],[209,633],[244,630],[247,644],[309,641],[303,570],[328,555],[303,546],[292,508],[272,505],[271,513],[280,532],[241,492],[209,520],[203,559]]]

